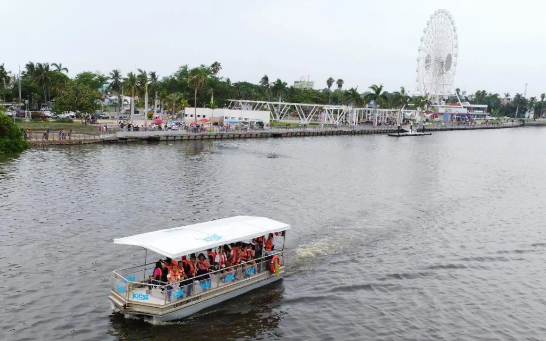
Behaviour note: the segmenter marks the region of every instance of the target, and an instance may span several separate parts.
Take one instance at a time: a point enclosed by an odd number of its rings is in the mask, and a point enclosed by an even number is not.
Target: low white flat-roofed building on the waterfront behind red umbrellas
[[[197,114],[197,117],[194,117]],[[227,119],[235,119],[246,122],[264,122],[269,124],[271,113],[263,110],[236,110],[236,109],[214,109],[214,113],[210,108],[186,108],[182,119],[186,123],[199,121],[200,119],[209,119],[212,122],[223,122]]]

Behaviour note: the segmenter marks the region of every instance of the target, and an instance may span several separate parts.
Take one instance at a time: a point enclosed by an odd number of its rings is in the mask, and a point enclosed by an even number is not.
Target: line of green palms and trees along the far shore
[[[299,89],[289,86],[281,79],[271,81],[264,75],[257,84],[247,81],[232,83],[229,78],[218,77],[222,65],[214,62],[210,66],[201,64],[190,68],[187,64],[176,72],[160,78],[154,72],[138,69],[137,72],[123,74],[122,70],[114,69],[108,75],[101,72],[85,71],[69,78],[68,69],[61,63],[28,62],[21,72],[21,97],[19,98],[19,80],[17,75],[0,65],[0,85],[2,86],[2,101],[22,103],[27,99],[29,108],[39,109],[43,104],[52,104],[56,111],[92,112],[100,107],[104,84],[108,84],[106,92],[118,97],[132,98],[131,107],[143,107],[150,99],[164,105],[165,109],[176,110],[183,107],[221,108],[229,104],[228,99],[247,99],[260,101],[283,101],[291,103],[333,104],[357,107],[379,108],[418,108],[426,110],[431,106],[428,96],[410,96],[403,87],[400,90],[388,92],[382,85],[371,85],[364,92],[358,87],[343,89],[343,79],[333,77],[325,81],[322,90]],[[334,87],[335,84],[335,87]],[[333,89],[334,87],[334,89]],[[544,93],[539,99],[525,98],[517,93],[512,101],[503,100],[498,93],[485,90],[467,95],[465,91],[456,89],[462,102],[472,104],[487,104],[488,111],[495,116],[522,116],[527,110],[542,113]],[[138,98],[138,100],[136,100]],[[449,103],[457,103],[456,96],[450,96]]]

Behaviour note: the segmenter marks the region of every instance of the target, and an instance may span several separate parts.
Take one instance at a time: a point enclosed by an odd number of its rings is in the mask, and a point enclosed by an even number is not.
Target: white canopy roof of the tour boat
[[[268,233],[288,230],[290,225],[266,217],[235,216],[200,224],[167,228],[114,239],[114,244],[142,246],[170,258],[250,240]]]

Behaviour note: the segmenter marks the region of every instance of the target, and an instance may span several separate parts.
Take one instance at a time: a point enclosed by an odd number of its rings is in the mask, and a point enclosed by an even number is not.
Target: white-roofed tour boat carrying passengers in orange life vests
[[[149,316],[158,321],[177,320],[280,280],[286,272],[283,254],[289,228],[288,224],[266,217],[235,216],[114,239],[115,244],[144,248],[145,261],[144,265],[114,271],[110,279],[113,286],[108,297],[110,305],[126,316]],[[254,240],[255,248],[264,250],[270,233],[275,236],[275,245],[269,255],[260,253],[252,261],[241,261],[223,270],[210,271],[210,279],[195,277],[189,284],[187,280],[182,280],[169,285],[149,279],[155,261],[146,264],[148,250],[180,262],[183,256],[206,255],[209,249],[221,252],[222,245],[230,243],[251,243]],[[263,237],[262,245],[255,240],[260,237]],[[277,248],[280,245],[281,248]]]

